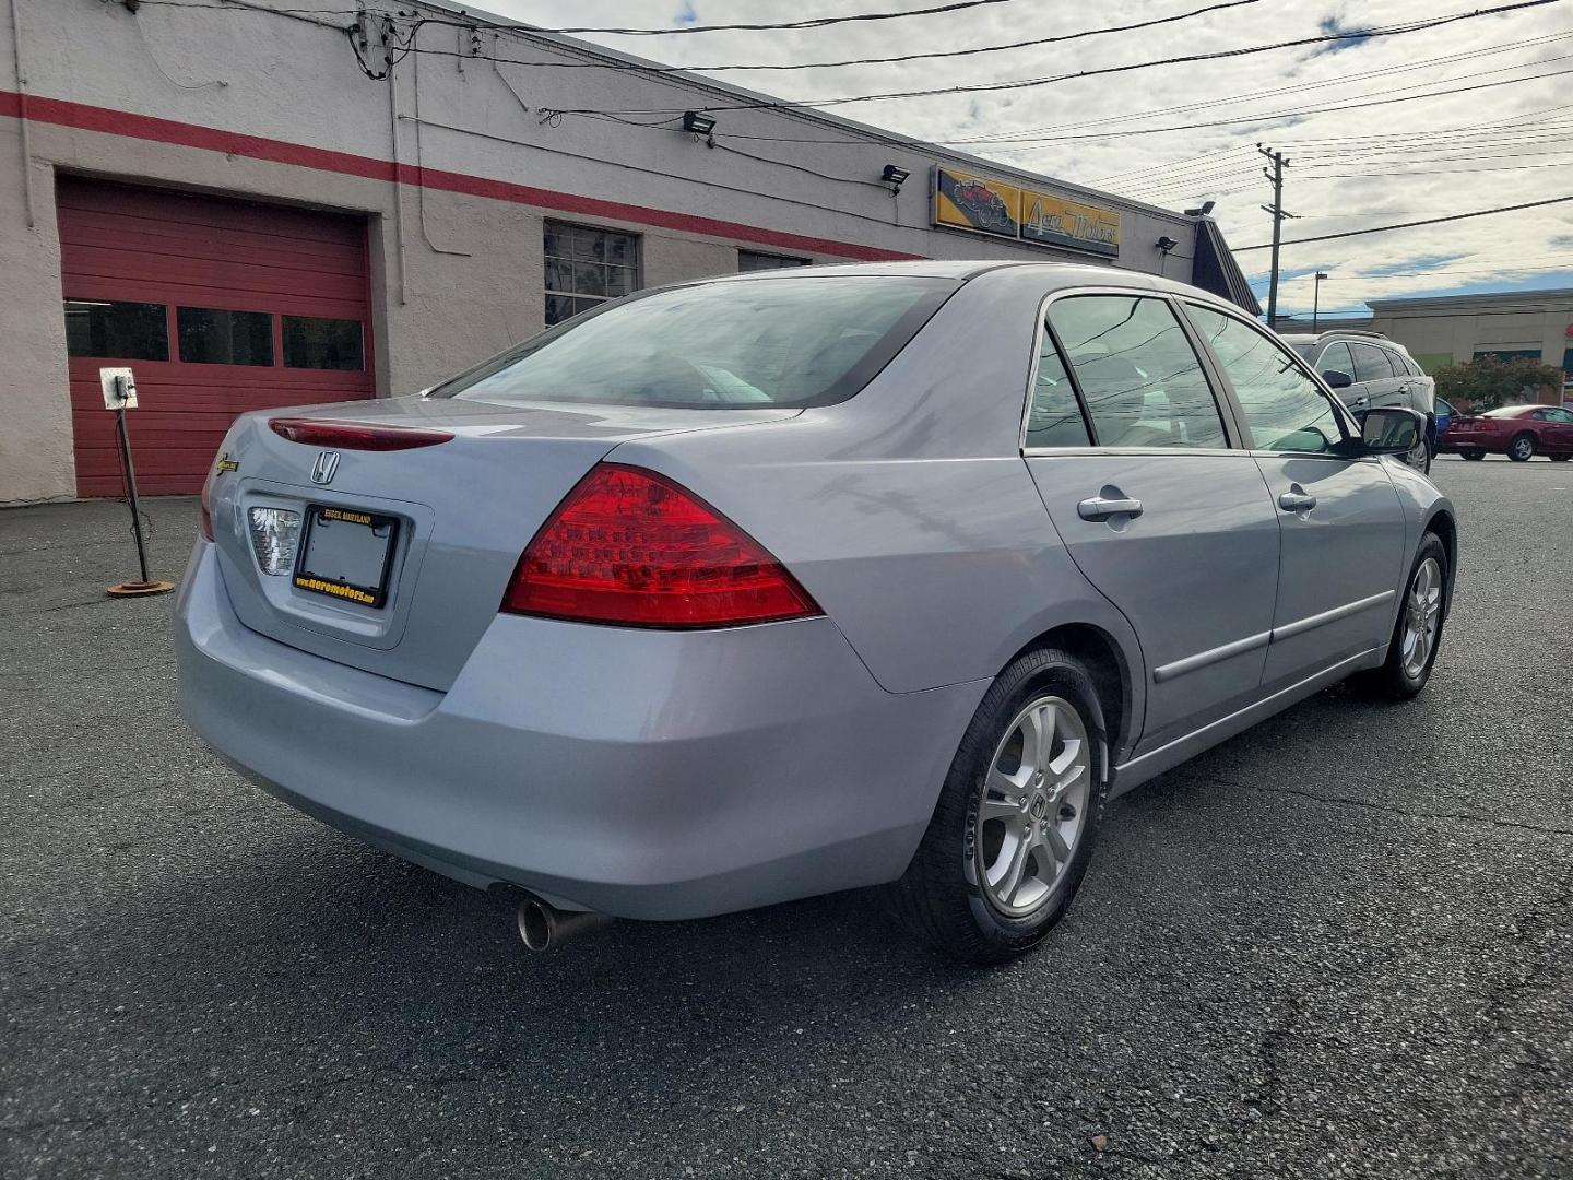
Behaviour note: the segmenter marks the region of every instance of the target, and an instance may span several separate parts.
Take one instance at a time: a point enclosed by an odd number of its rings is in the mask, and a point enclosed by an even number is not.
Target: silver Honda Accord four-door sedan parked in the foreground
[[[181,706],[324,823],[527,891],[533,946],[878,886],[997,961],[1107,799],[1346,677],[1424,688],[1458,540],[1416,430],[1150,275],[647,291],[420,396],[241,417]]]

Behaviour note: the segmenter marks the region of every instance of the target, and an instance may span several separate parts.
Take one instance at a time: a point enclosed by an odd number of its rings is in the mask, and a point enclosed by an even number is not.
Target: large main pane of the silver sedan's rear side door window
[[[1068,296],[1049,305],[1100,447],[1227,447],[1184,329],[1162,299]]]

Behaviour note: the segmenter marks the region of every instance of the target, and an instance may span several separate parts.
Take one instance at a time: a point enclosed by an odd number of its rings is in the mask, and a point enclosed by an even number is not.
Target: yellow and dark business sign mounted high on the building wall
[[[1120,214],[1115,209],[939,165],[934,165],[934,225],[1109,258],[1120,253]]]

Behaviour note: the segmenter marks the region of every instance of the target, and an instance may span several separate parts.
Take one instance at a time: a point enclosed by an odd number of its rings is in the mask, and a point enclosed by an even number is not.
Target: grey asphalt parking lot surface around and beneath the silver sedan
[[[996,971],[857,894],[530,957],[187,735],[123,505],[3,511],[0,1174],[1573,1174],[1573,469],[1435,475],[1427,692],[1118,801]],[[197,505],[148,508],[175,577]]]

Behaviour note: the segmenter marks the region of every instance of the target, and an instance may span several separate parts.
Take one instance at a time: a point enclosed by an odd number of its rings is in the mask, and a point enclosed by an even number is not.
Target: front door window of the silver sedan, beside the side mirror
[[[1211,307],[1189,304],[1188,312],[1235,387],[1255,450],[1317,453],[1343,441],[1332,403],[1288,351]]]

